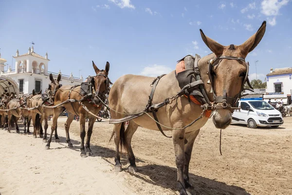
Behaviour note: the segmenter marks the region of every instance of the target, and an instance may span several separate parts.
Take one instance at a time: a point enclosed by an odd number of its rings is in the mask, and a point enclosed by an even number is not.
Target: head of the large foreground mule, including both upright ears
[[[231,123],[233,112],[231,107],[235,106],[237,98],[240,97],[248,76],[249,65],[245,62],[245,58],[255,49],[264,36],[265,30],[266,21],[262,23],[256,34],[243,44],[223,46],[205,36],[200,29],[203,41],[217,57],[209,62],[208,74],[216,96],[213,123],[219,129],[225,129]]]

